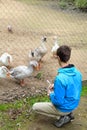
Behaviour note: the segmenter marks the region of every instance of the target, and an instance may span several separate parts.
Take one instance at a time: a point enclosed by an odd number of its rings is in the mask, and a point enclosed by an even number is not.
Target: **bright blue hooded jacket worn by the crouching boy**
[[[71,112],[78,107],[82,89],[82,75],[74,65],[58,69],[54,91],[50,100],[61,112]]]

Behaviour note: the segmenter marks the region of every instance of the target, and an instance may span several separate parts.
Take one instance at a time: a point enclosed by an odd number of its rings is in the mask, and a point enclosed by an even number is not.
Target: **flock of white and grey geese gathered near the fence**
[[[29,52],[30,62],[28,66],[19,65],[17,67],[9,69],[9,66],[12,63],[13,58],[7,52],[3,53],[0,56],[0,62],[3,64],[3,66],[0,67],[0,78],[8,78],[8,77],[14,78],[20,82],[21,86],[25,86],[25,81],[24,81],[25,78],[31,76],[31,74],[35,69],[40,70],[41,68],[41,61],[48,51],[45,45],[46,41],[47,41],[47,37],[43,36],[39,47],[30,50]],[[53,44],[54,45],[51,49],[51,52],[53,54],[53,57],[55,57],[56,50],[57,48],[59,48],[57,36],[54,37]]]

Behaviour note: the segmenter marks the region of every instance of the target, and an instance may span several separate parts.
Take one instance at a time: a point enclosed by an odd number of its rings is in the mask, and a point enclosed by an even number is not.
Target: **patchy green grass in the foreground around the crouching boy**
[[[87,95],[87,86],[82,88],[81,96]],[[30,108],[35,102],[49,101],[48,96],[37,96],[31,98],[24,98],[13,103],[0,104],[0,130],[17,130],[26,126],[30,116]]]

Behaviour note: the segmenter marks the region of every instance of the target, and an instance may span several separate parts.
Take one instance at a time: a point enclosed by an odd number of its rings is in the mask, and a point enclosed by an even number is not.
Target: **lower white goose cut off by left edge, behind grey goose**
[[[8,78],[10,77],[9,70],[6,66],[0,67],[0,78]]]

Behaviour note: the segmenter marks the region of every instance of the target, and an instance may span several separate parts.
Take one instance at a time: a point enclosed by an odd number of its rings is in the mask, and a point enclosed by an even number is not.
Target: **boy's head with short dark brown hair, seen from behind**
[[[71,48],[67,45],[62,45],[57,49],[57,56],[61,62],[68,62],[71,56]]]

